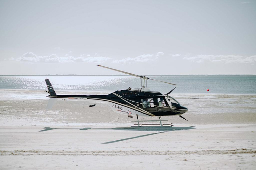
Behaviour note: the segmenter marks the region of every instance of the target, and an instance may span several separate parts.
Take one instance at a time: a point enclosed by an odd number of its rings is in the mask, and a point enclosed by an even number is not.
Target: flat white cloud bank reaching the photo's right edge
[[[189,55],[183,58],[196,63],[203,62],[222,62],[222,63],[255,63],[256,55],[250,57],[241,55],[197,55],[190,57]]]

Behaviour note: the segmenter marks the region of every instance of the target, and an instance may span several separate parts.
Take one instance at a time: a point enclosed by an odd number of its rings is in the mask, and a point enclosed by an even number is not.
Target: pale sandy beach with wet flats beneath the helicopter
[[[58,92],[65,93],[84,94]],[[173,116],[163,118],[171,128],[131,128],[136,118],[112,112],[105,102],[57,100],[47,110],[46,95],[0,90],[0,169],[256,166],[256,96],[173,94],[188,107],[189,122]]]

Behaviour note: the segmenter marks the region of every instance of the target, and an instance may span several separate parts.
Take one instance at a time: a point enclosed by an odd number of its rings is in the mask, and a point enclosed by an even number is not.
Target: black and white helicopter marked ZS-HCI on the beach
[[[141,87],[140,88],[131,88],[124,90],[117,90],[108,95],[57,95],[55,90],[50,83],[48,78],[45,79],[48,91],[50,95],[47,97],[50,98],[47,108],[52,108],[56,99],[63,100],[72,100],[72,99],[89,99],[89,100],[101,100],[106,101],[109,107],[116,113],[121,113],[124,115],[128,115],[128,117],[132,118],[133,116],[137,116],[138,124],[134,124],[135,126],[131,127],[172,127],[172,123],[163,124],[161,120],[161,116],[174,116],[178,115],[179,117],[185,119],[182,114],[188,111],[187,107],[182,106],[177,100],[171,97],[169,94],[176,88],[174,87],[170,92],[166,94],[162,94],[157,91],[150,91],[147,87],[148,80],[155,80],[162,83],[167,83],[171,85],[169,82],[164,82],[152,78],[148,78],[144,75],[136,75],[129,72],[116,70],[113,68],[105,67],[102,65],[97,65],[106,69],[118,71],[124,74],[128,74],[131,76],[135,76],[141,79]],[[143,83],[142,83],[143,82]],[[146,83],[146,86],[145,86]],[[95,105],[94,105],[95,106]],[[91,106],[90,106],[91,107]],[[158,116],[160,124],[142,124],[141,122],[158,122],[158,120],[148,120],[148,121],[139,121],[139,116]],[[187,119],[185,119],[188,121]]]

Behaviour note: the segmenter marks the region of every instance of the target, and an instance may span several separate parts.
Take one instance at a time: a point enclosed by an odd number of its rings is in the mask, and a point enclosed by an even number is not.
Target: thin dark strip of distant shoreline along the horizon
[[[42,76],[55,76],[55,77],[60,77],[60,76],[70,76],[70,77],[79,77],[79,76],[88,76],[88,77],[93,77],[93,76],[112,76],[112,77],[131,77],[130,75],[77,75],[77,74],[68,74],[68,75],[51,75],[51,74],[45,74],[45,75],[0,75],[0,77],[28,77],[28,76],[36,76],[36,77],[42,77]],[[184,74],[184,75],[147,75],[147,76],[256,76],[254,74]]]

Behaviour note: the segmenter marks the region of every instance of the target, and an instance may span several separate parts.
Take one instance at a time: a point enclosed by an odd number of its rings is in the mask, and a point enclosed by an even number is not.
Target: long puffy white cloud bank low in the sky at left
[[[13,57],[12,57],[13,58]],[[12,60],[10,58],[10,60]],[[16,61],[23,61],[23,62],[32,62],[32,63],[68,63],[68,62],[88,62],[88,63],[103,63],[111,59],[110,57],[102,57],[102,56],[95,56],[95,57],[73,57],[67,56],[66,57],[59,57],[56,54],[52,54],[49,56],[37,56],[34,53],[25,53],[21,57],[17,58]],[[14,60],[14,58],[13,58]]]

